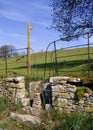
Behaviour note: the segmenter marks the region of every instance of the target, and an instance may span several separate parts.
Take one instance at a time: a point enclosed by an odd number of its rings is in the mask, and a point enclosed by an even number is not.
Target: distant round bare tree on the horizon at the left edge
[[[3,45],[0,47],[0,57],[10,57],[16,52],[16,48],[13,45]],[[17,53],[17,52],[16,52]]]

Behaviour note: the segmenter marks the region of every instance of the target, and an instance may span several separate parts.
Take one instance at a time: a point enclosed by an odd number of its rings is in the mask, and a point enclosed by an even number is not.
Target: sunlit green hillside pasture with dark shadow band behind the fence
[[[55,53],[39,52],[31,55],[31,77],[34,79],[48,79],[49,76],[93,76],[93,47],[90,47],[90,64],[88,65],[88,49],[76,48],[68,50],[58,50],[57,62]],[[7,64],[7,65],[6,65]],[[7,70],[10,76],[27,76],[27,56],[9,57],[7,60],[0,58],[0,77],[5,77]]]

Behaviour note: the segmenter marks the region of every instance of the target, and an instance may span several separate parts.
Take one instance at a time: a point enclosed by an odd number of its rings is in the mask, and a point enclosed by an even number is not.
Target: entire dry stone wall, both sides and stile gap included
[[[73,84],[70,84],[70,82]],[[49,83],[30,82],[29,97],[26,96],[24,77],[6,78],[3,87],[0,86],[0,96],[6,96],[10,103],[23,105],[23,109],[31,115],[39,116],[42,112],[42,104],[45,109],[54,107],[63,112],[86,111],[93,112],[93,91],[84,93],[83,98],[76,99],[79,78],[51,77]]]

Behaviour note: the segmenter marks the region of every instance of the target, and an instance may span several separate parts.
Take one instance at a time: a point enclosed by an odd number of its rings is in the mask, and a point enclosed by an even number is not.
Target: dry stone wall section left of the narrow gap
[[[24,77],[5,78],[1,88],[2,96],[5,96],[10,104],[21,102],[23,107],[29,104],[29,98],[26,98]]]

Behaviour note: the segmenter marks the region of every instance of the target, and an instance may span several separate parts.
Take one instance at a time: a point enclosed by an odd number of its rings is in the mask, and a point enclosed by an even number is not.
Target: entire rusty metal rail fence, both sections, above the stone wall
[[[93,78],[93,43],[57,49],[57,42],[51,42],[45,52],[34,53],[30,49],[30,75],[27,48],[14,49],[11,53],[0,51],[0,78],[28,75],[43,80],[58,75]]]

